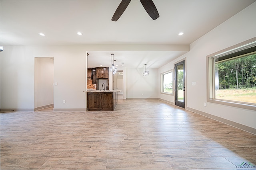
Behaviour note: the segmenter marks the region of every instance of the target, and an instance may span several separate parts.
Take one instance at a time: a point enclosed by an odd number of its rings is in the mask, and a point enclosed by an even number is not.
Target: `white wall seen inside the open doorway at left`
[[[35,108],[53,104],[54,60],[35,58]]]

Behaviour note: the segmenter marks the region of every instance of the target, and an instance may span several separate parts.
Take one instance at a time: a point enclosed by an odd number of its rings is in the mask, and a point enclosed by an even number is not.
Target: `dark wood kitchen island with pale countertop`
[[[86,90],[87,110],[114,110],[121,90]]]

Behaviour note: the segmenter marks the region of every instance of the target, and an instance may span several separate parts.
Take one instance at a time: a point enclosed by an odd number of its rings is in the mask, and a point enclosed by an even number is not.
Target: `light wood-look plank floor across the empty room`
[[[1,169],[223,169],[256,164],[256,135],[159,100],[115,111],[1,113]]]

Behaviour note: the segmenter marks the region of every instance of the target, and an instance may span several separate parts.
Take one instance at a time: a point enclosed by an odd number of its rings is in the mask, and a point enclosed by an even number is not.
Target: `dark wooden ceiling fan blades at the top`
[[[116,9],[112,17],[112,21],[117,21],[120,16],[123,14],[124,10],[127,8],[131,0],[122,0],[119,6]],[[153,19],[156,20],[159,17],[158,11],[156,6],[152,0],[140,0],[142,6],[145,8],[148,15]]]

